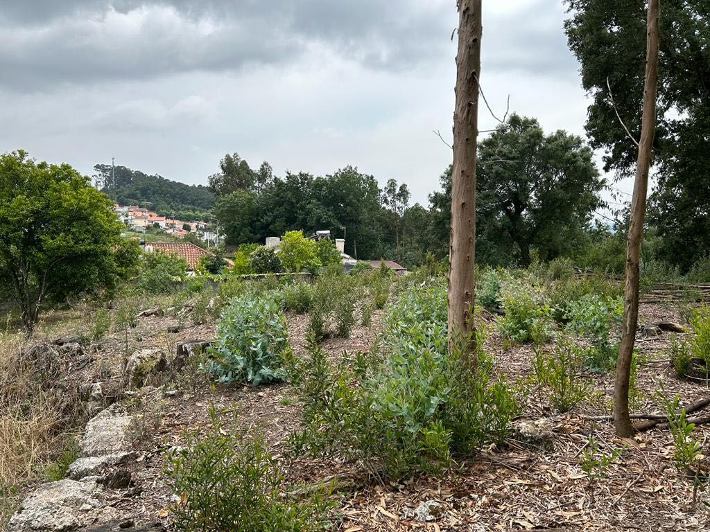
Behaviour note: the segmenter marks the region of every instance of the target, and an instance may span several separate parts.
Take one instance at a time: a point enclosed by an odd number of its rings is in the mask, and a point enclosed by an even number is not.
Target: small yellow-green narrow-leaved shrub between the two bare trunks
[[[579,376],[583,355],[572,340],[559,338],[551,352],[535,348],[532,368],[537,382],[550,391],[550,402],[567,412],[584,399],[589,383]]]

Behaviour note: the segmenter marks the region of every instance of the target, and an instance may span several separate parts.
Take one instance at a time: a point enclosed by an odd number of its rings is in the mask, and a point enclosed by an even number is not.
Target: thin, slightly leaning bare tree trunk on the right
[[[626,284],[624,286],[623,322],[621,345],[616,360],[614,384],[614,427],[618,436],[633,434],[633,425],[628,414],[628,384],[631,370],[633,344],[638,323],[639,255],[643,242],[643,217],[646,211],[648,169],[651,164],[651,148],[656,123],[656,80],[658,74],[658,13],[660,0],[649,0],[646,77],[643,87],[643,118],[641,139],[638,143],[638,162],[633,184],[631,219],[626,245]]]

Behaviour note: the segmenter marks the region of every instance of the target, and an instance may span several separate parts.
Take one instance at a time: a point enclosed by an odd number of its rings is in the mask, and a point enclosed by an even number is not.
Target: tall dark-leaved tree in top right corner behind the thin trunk
[[[637,148],[629,136],[638,141],[641,128],[646,2],[565,1],[569,48],[592,100],[586,122],[591,146],[606,151],[605,170],[630,176]],[[709,18],[706,0],[665,0],[659,20],[657,184],[648,214],[662,237],[660,256],[684,271],[710,253]]]

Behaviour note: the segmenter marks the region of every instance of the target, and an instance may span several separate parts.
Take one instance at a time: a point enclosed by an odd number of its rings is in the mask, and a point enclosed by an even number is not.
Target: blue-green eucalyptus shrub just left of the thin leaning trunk
[[[589,369],[606,371],[616,365],[618,341],[614,341],[611,335],[613,328],[621,323],[622,314],[621,299],[602,298],[596,294],[587,294],[569,304],[567,328],[589,341],[586,354]]]

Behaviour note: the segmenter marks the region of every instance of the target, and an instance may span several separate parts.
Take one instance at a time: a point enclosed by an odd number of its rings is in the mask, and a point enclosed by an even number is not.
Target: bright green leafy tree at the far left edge
[[[111,208],[70,165],[35,162],[23,150],[0,155],[0,284],[28,333],[46,304],[130,270],[130,253],[116,262],[122,224]]]

